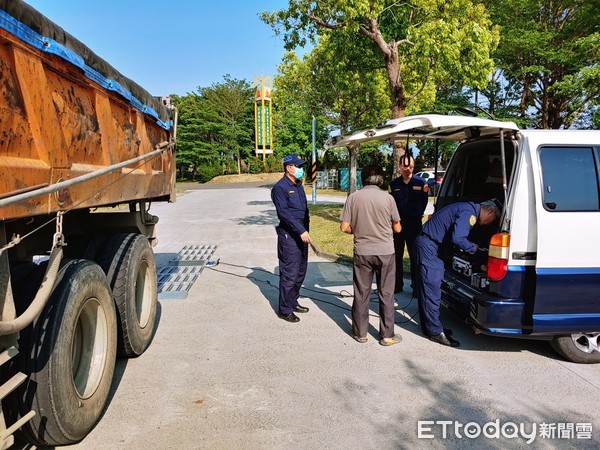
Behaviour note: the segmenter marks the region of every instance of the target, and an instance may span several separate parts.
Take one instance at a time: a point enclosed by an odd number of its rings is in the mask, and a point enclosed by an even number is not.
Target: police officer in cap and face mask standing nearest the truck
[[[277,210],[277,257],[279,258],[279,317],[298,322],[294,313],[306,313],[298,304],[300,287],[308,265],[309,216],[306,193],[302,186],[306,161],[297,154],[283,158],[284,175],[271,190]]]

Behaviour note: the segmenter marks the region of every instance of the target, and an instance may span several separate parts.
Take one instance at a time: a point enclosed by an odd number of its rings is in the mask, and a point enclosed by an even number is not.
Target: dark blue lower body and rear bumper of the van
[[[448,276],[448,273],[447,273]],[[464,277],[450,277],[454,285]],[[475,328],[498,335],[549,336],[600,331],[600,268],[509,266],[488,293],[462,298],[460,290],[443,289],[443,301],[457,309],[470,306]]]

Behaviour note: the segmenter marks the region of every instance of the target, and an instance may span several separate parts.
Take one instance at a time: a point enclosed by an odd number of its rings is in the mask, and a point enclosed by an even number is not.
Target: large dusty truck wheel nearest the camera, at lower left
[[[17,390],[20,414],[36,415],[19,430],[34,445],[81,441],[100,418],[116,362],[116,312],[102,269],[71,260],[44,311],[24,330],[18,364],[29,376]]]

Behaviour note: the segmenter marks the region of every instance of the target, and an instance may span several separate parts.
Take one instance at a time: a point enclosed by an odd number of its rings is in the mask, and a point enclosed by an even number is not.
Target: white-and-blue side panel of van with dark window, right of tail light
[[[562,133],[569,133],[563,131]],[[533,332],[600,330],[600,149],[579,134],[529,139],[537,215]],[[539,145],[536,145],[536,140]],[[588,142],[584,144],[583,142]]]

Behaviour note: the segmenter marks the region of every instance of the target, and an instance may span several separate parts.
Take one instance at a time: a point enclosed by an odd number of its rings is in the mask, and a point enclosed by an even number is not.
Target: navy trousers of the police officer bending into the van
[[[421,330],[426,336],[435,336],[444,331],[440,320],[444,262],[438,256],[438,244],[426,236],[418,236],[415,239],[413,250],[417,269],[416,288]]]

